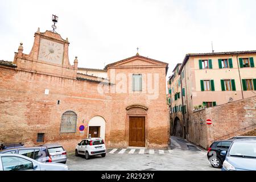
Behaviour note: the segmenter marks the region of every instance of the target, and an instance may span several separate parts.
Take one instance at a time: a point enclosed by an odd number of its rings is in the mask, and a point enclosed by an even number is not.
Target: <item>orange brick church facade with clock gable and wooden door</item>
[[[20,43],[14,61],[0,61],[0,143],[60,143],[75,150],[83,138],[107,147],[166,148],[168,64],[140,56],[79,68],[68,39],[35,32],[31,52]]]

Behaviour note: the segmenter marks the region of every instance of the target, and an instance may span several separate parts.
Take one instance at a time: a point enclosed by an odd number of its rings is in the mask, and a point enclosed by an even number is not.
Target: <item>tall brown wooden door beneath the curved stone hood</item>
[[[129,146],[145,147],[145,117],[129,117]]]

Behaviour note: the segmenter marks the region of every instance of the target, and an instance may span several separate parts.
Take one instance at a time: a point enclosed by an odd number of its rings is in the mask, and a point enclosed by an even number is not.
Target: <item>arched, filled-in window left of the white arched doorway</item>
[[[60,133],[76,133],[77,115],[73,111],[66,111],[61,117]]]

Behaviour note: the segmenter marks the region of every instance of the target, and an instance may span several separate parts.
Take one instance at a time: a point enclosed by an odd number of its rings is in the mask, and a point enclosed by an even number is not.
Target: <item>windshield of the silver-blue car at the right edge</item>
[[[256,158],[256,142],[234,142],[229,151],[230,156]]]

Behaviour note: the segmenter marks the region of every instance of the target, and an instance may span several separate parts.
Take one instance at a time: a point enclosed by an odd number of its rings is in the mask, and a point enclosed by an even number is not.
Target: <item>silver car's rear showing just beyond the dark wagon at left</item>
[[[60,144],[51,143],[44,144],[47,147],[49,155],[53,163],[66,163],[67,162],[67,152]]]

